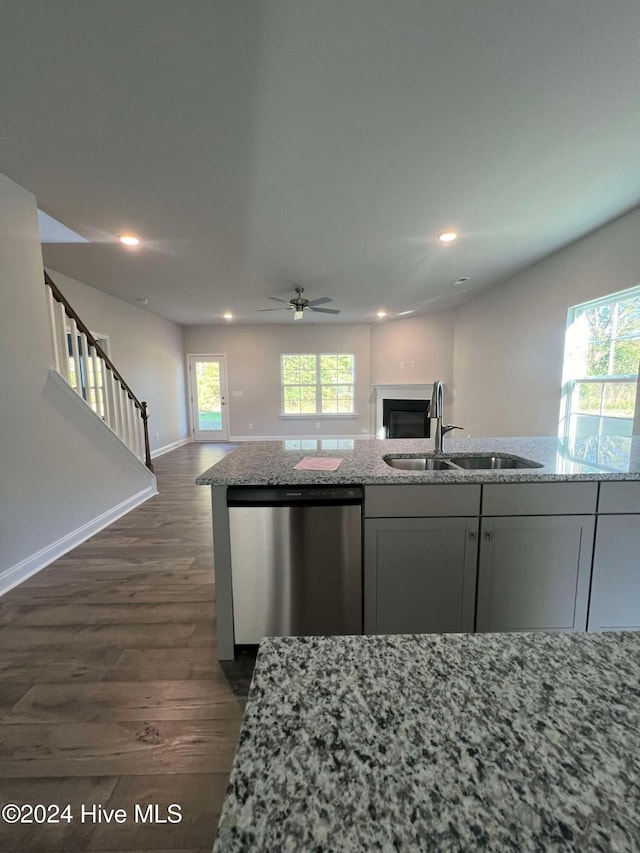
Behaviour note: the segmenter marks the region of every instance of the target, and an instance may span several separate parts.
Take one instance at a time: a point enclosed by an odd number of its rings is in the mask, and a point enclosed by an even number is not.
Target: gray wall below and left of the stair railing
[[[155,479],[51,382],[36,202],[1,175],[0,318],[1,585],[3,572]]]

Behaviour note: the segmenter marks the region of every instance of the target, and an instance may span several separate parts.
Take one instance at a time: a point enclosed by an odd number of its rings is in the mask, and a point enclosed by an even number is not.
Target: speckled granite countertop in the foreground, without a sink
[[[637,851],[640,633],[266,639],[214,851]]]

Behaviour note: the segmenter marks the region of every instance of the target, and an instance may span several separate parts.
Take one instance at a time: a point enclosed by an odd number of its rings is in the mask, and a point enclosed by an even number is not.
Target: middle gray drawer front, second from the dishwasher
[[[597,483],[494,483],[483,486],[483,515],[595,513]]]

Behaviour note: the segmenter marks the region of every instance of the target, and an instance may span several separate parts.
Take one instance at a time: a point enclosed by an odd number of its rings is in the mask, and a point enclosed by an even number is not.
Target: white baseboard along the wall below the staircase
[[[155,483],[151,486],[147,486],[146,489],[142,489],[142,491],[132,495],[132,497],[127,498],[117,506],[108,509],[106,512],[103,512],[91,521],[87,521],[86,524],[82,525],[82,527],[78,527],[76,530],[72,530],[71,533],[67,533],[66,536],[62,537],[62,539],[58,539],[57,542],[47,545],[46,548],[42,548],[30,557],[21,560],[19,563],[16,563],[15,566],[11,566],[10,568],[5,569],[4,572],[0,572],[0,595],[4,595],[5,592],[9,592],[10,589],[18,586],[27,578],[30,578],[41,569],[44,569],[45,566],[53,563],[54,560],[62,557],[63,554],[66,554],[68,551],[76,548],[78,545],[82,544],[82,542],[85,542],[94,534],[104,530],[105,527],[108,527],[114,521],[122,518],[123,515],[131,512],[132,509],[135,509],[137,506],[140,506],[140,504],[157,494],[158,490]]]

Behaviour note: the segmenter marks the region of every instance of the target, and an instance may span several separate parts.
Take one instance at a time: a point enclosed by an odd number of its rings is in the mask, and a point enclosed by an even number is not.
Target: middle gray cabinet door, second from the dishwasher
[[[593,516],[484,518],[478,631],[584,631]]]

